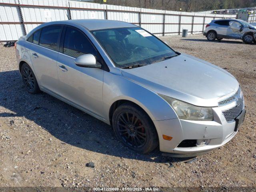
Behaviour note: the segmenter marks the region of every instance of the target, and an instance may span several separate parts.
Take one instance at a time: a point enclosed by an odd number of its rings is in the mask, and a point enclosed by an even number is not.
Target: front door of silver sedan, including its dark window
[[[100,56],[86,35],[73,27],[66,27],[62,37],[63,50],[57,60],[58,94],[70,102],[100,116],[104,71],[99,68],[79,67],[74,60],[83,54]]]

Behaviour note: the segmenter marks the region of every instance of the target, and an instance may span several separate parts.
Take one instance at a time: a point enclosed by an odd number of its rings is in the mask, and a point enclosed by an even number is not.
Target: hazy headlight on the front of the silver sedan
[[[159,95],[172,106],[180,119],[194,121],[213,120],[211,107],[198,107],[165,95]]]

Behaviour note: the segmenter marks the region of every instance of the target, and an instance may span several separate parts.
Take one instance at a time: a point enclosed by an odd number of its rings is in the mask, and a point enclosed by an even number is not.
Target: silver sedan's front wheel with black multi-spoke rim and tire
[[[135,104],[118,106],[112,124],[116,137],[135,152],[147,154],[158,146],[158,134],[152,120]]]

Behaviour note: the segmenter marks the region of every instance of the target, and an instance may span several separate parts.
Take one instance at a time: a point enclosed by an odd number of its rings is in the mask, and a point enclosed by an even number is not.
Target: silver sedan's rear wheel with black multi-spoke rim
[[[37,94],[40,93],[40,88],[38,86],[38,83],[36,81],[36,76],[34,75],[32,69],[30,66],[26,63],[24,63],[21,67],[21,75],[22,80],[26,86],[26,89],[31,94]]]

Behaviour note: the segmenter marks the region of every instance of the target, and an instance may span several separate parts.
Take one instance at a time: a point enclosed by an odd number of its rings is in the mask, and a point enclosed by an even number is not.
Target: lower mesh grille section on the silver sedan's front
[[[239,100],[238,100],[238,104],[226,111],[222,111],[222,114],[224,115],[226,121],[228,123],[234,122],[236,117],[240,115],[240,113],[242,112],[244,107],[244,97],[242,96]]]

